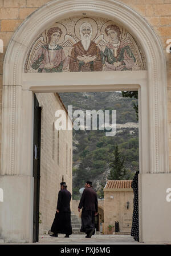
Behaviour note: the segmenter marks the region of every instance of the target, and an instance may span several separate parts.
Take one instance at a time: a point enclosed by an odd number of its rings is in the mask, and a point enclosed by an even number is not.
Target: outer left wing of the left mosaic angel
[[[46,45],[46,43],[43,40],[43,36],[39,37],[34,44],[31,47],[31,51],[28,56],[28,62],[27,62],[27,67],[26,67],[26,73],[28,72],[28,70],[31,68],[31,64],[32,64],[32,58],[35,56],[36,52],[38,52],[38,50],[42,47],[42,45]]]

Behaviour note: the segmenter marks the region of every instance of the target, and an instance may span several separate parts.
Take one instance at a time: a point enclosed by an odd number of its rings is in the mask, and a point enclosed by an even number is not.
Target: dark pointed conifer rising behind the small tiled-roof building
[[[111,167],[110,174],[108,176],[109,180],[121,180],[126,174],[126,169],[124,168],[125,157],[121,156],[119,152],[118,145],[116,143],[115,150],[113,151],[112,162],[109,163]]]

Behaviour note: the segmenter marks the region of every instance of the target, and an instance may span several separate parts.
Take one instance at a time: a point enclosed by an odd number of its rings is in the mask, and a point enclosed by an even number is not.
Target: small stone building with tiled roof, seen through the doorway
[[[104,233],[119,222],[120,233],[131,234],[133,214],[132,180],[108,180],[104,187]]]

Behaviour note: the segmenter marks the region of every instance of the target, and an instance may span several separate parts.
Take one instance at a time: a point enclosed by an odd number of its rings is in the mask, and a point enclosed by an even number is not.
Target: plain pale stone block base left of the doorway
[[[32,242],[33,180],[31,176],[0,176],[0,239],[5,243]]]

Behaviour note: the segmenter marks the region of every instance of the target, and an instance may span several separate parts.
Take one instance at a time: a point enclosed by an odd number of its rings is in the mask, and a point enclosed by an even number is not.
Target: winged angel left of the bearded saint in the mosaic
[[[66,34],[63,42],[58,44],[62,34],[60,27],[51,27],[47,33],[46,30],[44,35],[42,33],[32,46],[27,70],[31,67],[38,73],[63,72],[63,68],[70,62],[70,57],[65,55],[63,46],[73,46],[76,41]]]

